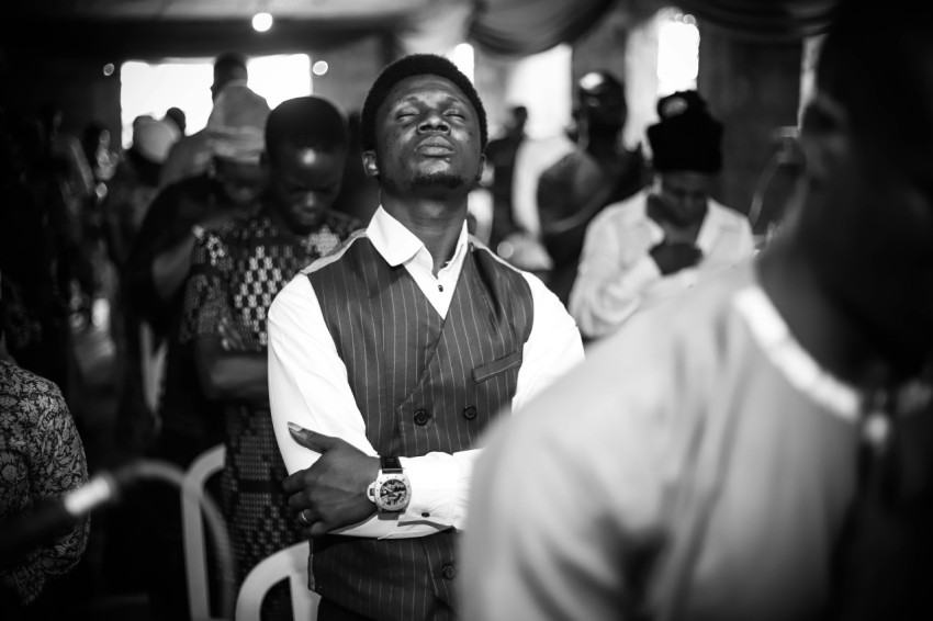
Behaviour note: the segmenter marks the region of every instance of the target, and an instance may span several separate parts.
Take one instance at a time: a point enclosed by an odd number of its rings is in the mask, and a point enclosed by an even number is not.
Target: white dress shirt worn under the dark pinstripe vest
[[[379,207],[366,230],[385,261],[405,269],[441,317],[453,297],[468,252],[466,224],[453,258],[437,274],[425,245]],[[319,261],[333,261],[334,257]],[[326,436],[341,438],[368,455],[376,455],[366,436],[363,417],[347,379],[347,369],[327,329],[307,273],[303,270],[279,293],[269,309],[269,400],[279,449],[289,473],[311,466],[318,458],[290,436],[292,421]],[[535,319],[522,350],[513,411],[583,360],[583,345],[564,306],[536,276],[524,273],[531,287]],[[479,449],[453,454],[432,452],[402,458],[412,485],[408,508],[397,520],[373,516],[338,530],[370,538],[423,537],[449,527],[462,528],[466,517],[470,477]],[[425,517],[428,516],[428,517]]]

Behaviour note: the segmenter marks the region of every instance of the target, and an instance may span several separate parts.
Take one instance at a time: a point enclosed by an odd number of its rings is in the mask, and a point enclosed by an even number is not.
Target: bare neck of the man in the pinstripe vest
[[[437,275],[457,249],[466,219],[466,195],[428,199],[383,192],[382,207],[421,240],[431,255],[432,272]]]

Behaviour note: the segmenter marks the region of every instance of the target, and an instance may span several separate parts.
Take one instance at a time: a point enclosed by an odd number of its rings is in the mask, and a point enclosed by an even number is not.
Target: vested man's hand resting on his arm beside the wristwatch
[[[375,512],[367,487],[379,474],[379,458],[372,458],[340,438],[324,436],[289,424],[292,438],[321,453],[308,468],[285,478],[282,487],[289,506],[303,518],[307,534],[321,537],[351,526]]]

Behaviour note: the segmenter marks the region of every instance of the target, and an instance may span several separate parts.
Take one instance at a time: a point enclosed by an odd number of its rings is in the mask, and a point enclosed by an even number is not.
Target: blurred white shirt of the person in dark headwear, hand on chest
[[[752,227],[742,214],[712,199],[697,235],[700,261],[664,275],[651,249],[664,230],[648,216],[650,189],[607,206],[586,228],[569,307],[584,335],[615,332],[636,310],[694,286],[708,273],[754,255]]]

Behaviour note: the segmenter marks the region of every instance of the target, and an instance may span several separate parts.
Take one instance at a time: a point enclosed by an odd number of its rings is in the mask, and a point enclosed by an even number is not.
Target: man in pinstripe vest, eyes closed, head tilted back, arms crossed
[[[322,621],[451,619],[477,440],[583,346],[541,281],[468,235],[486,121],[449,60],[386,67],[361,139],[381,206],[269,310],[284,487],[312,538]]]

